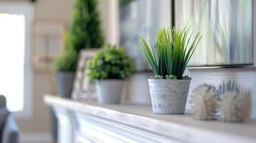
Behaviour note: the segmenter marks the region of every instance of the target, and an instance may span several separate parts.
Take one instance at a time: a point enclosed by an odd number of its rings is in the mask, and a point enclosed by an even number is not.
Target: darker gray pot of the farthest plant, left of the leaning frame
[[[57,93],[60,97],[70,98],[73,82],[75,79],[75,72],[59,71],[56,74]]]

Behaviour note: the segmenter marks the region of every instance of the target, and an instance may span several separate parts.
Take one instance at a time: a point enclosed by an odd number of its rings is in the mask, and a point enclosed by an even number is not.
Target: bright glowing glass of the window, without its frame
[[[0,14],[0,94],[11,112],[24,108],[25,17]]]

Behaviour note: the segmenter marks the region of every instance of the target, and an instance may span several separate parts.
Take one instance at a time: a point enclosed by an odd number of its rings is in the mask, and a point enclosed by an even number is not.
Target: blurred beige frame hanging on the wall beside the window
[[[52,71],[52,62],[63,51],[63,34],[67,29],[64,21],[37,21],[33,29],[33,68],[36,72]]]

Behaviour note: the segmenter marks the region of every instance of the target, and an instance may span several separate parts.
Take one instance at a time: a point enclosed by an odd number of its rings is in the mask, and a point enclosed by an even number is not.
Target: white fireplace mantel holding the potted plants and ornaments
[[[103,105],[46,95],[58,119],[59,143],[256,142],[256,119],[245,123],[194,120],[191,114],[153,114],[151,107]]]

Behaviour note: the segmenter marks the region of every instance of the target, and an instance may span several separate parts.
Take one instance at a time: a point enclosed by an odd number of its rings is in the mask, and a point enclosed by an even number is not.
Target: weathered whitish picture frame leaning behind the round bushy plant
[[[88,59],[92,59],[95,56],[96,51],[96,49],[83,49],[80,51],[71,95],[74,100],[85,102],[97,100],[95,81],[86,75],[86,62]]]

